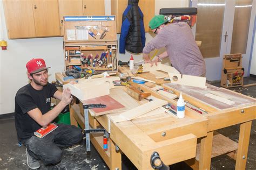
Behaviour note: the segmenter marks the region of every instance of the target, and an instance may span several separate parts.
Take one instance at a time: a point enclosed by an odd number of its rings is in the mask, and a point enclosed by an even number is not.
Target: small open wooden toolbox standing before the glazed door
[[[244,83],[242,54],[227,54],[223,58],[220,86],[225,88],[239,87]]]

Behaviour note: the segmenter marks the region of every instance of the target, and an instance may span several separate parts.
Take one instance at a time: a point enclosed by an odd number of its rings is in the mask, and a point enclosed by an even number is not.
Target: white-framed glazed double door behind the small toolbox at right
[[[224,54],[242,53],[242,67],[248,75],[256,1],[192,0],[198,8],[193,28],[206,62],[207,80],[220,80]]]

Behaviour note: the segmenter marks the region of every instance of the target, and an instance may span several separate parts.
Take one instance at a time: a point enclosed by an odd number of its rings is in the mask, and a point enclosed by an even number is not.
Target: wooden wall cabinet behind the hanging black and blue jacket
[[[149,22],[154,17],[155,0],[140,0],[139,8],[144,15],[145,31],[149,32]],[[128,5],[128,0],[111,0],[111,15],[117,17],[117,33],[121,32],[123,12]]]

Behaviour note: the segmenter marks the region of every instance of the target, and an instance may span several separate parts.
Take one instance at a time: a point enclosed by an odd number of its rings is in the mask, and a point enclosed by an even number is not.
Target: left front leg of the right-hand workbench
[[[207,136],[201,139],[200,156],[199,156],[200,170],[211,169],[212,140],[213,140],[213,131],[208,132]]]

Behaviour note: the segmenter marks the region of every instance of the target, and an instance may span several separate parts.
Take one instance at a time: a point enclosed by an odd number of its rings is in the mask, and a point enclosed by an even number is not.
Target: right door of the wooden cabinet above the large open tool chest
[[[104,0],[83,0],[84,16],[102,16],[105,15]]]

